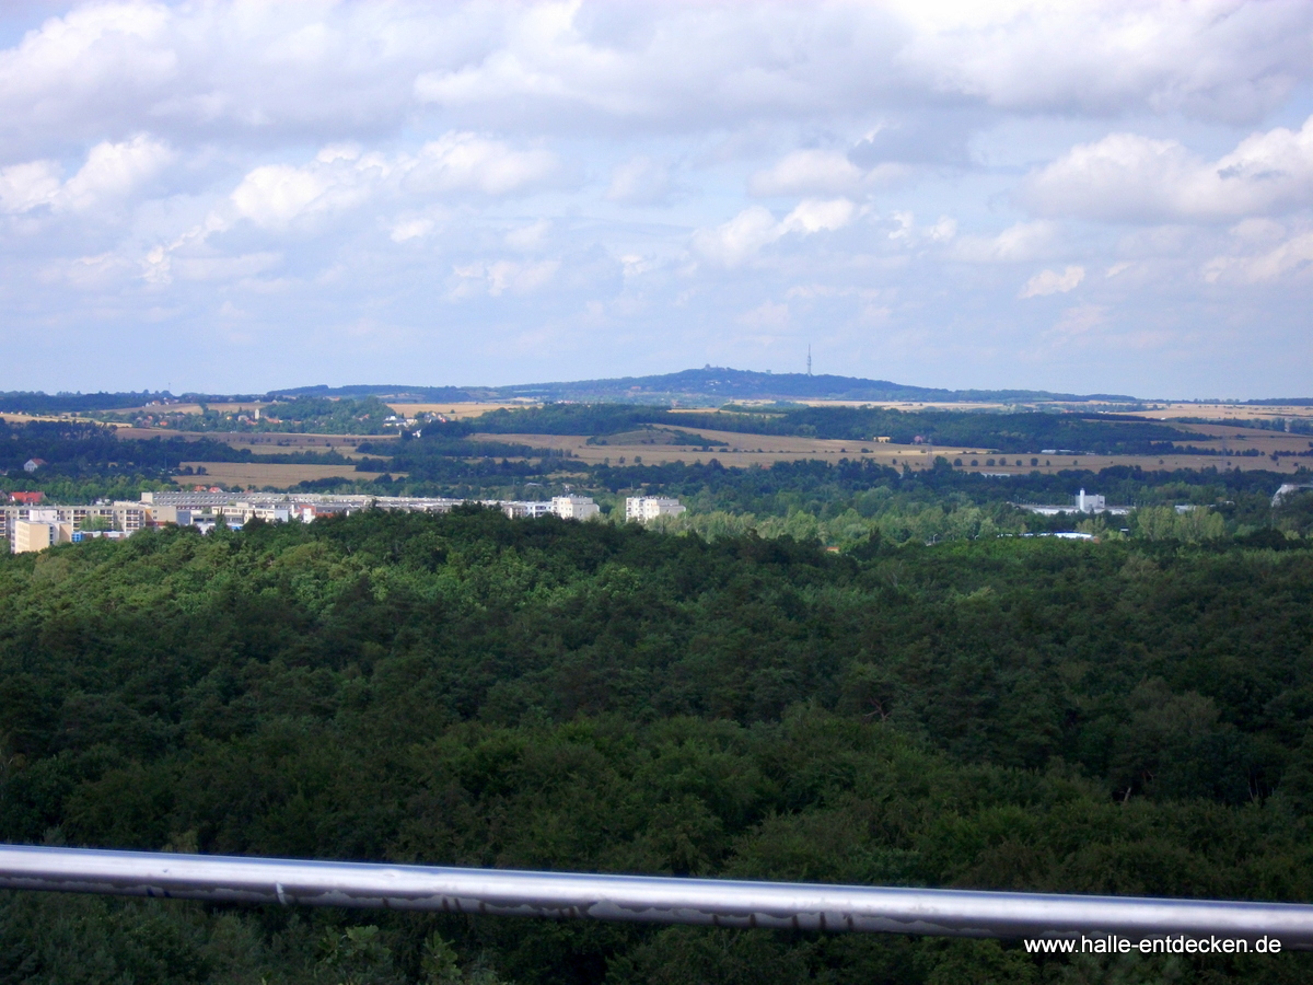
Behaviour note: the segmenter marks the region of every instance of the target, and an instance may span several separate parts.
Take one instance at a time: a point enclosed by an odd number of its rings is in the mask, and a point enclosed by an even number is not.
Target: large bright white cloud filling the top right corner
[[[1010,110],[1253,121],[1309,74],[1313,8],[1245,0],[898,3],[926,84]]]

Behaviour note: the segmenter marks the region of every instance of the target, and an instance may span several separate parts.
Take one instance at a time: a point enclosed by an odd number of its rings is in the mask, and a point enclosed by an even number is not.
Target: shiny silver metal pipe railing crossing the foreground
[[[931,936],[1184,935],[1313,947],[1313,905],[0,846],[0,888]]]

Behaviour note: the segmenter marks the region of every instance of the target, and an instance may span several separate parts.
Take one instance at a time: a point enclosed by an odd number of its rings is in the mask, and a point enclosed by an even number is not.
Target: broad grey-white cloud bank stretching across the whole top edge
[[[876,106],[1257,121],[1309,79],[1310,28],[1308,4],[1242,0],[77,3],[0,51],[0,146],[324,141],[398,133],[423,106],[458,129],[597,134]]]

